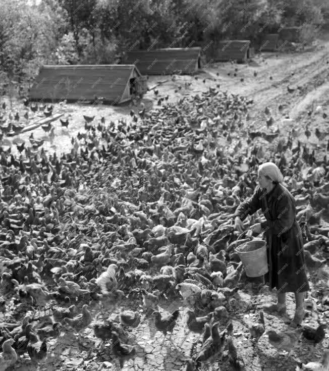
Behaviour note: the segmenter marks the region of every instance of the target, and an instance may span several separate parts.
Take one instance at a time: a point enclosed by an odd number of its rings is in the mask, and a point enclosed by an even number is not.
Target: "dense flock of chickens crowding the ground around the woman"
[[[171,339],[183,309],[168,313],[161,305],[178,298],[188,307],[186,331],[200,334],[185,369],[218,359],[223,369],[248,369],[231,319],[246,282],[235,248],[255,236],[237,239],[233,215],[264,161],[277,163],[296,198],[307,269],[328,308],[328,159],[314,161],[290,137],[278,144],[290,161],[280,148],[266,157],[241,140],[232,151],[218,145],[234,141],[237,130],[252,142],[249,104],[210,88],[176,105],[132,111],[131,122],[102,118],[94,125],[94,117],[84,117],[86,132],[61,157],[41,145],[21,147],[19,156],[0,147],[0,371],[25,353],[36,367],[46,362],[49,339],[72,329],[79,339],[88,327],[123,367],[138,356],[129,333],[146,319],[154,319],[163,341]],[[142,310],[125,309],[127,302]],[[95,307],[102,321],[93,317]],[[118,307],[118,321],[110,320]],[[325,338],[322,323],[277,333],[265,329],[262,311],[257,315],[249,327],[253,347],[265,332],[269,344],[287,352],[302,336],[315,345]],[[328,357],[326,351],[321,363],[297,367],[327,370]]]

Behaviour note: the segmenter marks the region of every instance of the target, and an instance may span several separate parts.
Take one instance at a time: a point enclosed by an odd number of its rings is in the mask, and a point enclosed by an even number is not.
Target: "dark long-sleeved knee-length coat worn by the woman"
[[[302,232],[296,222],[293,195],[280,183],[270,192],[257,187],[248,200],[240,203],[235,216],[244,220],[259,208],[266,218],[261,226],[266,233],[268,273],[265,281],[269,288],[276,287],[280,292],[309,290]]]

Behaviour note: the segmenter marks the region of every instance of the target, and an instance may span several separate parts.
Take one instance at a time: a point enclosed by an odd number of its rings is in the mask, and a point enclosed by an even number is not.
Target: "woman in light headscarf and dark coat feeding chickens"
[[[259,187],[235,211],[235,228],[242,232],[242,221],[261,208],[266,221],[253,225],[251,230],[266,233],[268,273],[265,278],[270,290],[278,290],[278,302],[266,304],[263,309],[286,313],[286,292],[294,292],[296,310],[292,325],[297,326],[303,321],[303,292],[309,290],[309,284],[302,232],[295,219],[295,199],[281,184],[283,175],[275,164],[268,162],[260,165],[257,180]]]

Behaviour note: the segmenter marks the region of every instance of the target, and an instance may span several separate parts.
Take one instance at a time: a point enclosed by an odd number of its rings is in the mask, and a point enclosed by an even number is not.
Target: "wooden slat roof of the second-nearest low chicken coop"
[[[170,74],[177,70],[193,73],[200,55],[201,47],[132,50],[127,53],[126,63],[135,64],[145,75]]]

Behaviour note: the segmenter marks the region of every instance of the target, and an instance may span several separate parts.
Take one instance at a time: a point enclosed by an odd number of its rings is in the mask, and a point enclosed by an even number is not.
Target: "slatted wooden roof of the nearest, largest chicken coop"
[[[134,65],[46,65],[40,69],[29,96],[32,100],[92,100],[96,95],[120,101],[133,69]]]

